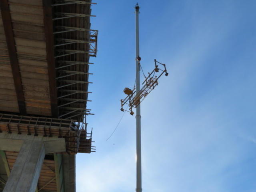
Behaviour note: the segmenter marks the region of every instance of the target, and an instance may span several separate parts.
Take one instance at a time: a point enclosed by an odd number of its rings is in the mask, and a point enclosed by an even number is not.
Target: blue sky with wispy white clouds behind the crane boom
[[[123,112],[135,81],[136,1],[97,1],[88,127],[96,153],[78,154],[78,192],[136,188],[135,116]],[[147,192],[256,190],[256,2],[138,0],[140,56],[169,76],[141,104],[142,188]]]

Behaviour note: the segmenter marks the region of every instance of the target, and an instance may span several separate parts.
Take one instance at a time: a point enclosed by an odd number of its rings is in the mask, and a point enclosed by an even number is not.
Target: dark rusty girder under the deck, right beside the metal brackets
[[[51,0],[43,0],[43,11],[44,11],[44,30],[45,30],[45,37],[46,37],[46,52],[47,52],[47,62],[48,62],[51,110],[52,110],[52,117],[58,118],[56,71],[55,71],[55,58],[54,58],[54,38],[53,38],[53,25],[52,25],[52,1]]]

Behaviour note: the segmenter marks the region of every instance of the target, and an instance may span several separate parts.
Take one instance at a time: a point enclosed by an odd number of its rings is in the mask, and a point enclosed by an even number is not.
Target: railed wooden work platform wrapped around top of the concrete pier
[[[86,130],[79,128],[72,120],[0,114],[2,131],[10,134],[58,136],[66,141],[66,152],[63,153],[91,152],[91,133],[88,136]]]

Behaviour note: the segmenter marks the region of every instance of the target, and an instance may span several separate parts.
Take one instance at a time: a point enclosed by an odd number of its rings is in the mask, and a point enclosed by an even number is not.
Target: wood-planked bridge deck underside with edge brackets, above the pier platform
[[[0,111],[69,118],[91,114],[89,58],[98,31],[90,0],[1,0]]]

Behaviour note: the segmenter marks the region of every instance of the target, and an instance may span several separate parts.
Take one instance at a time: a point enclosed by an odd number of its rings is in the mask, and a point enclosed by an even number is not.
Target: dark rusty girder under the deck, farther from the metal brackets
[[[2,21],[4,25],[8,52],[10,56],[10,64],[12,67],[12,76],[14,79],[19,111],[20,111],[20,114],[26,115],[26,107],[25,107],[24,96],[22,91],[22,84],[20,79],[20,71],[19,71],[18,59],[16,55],[14,36],[12,33],[12,23],[11,23],[10,10],[8,6],[8,0],[0,1],[0,10],[2,14]]]

